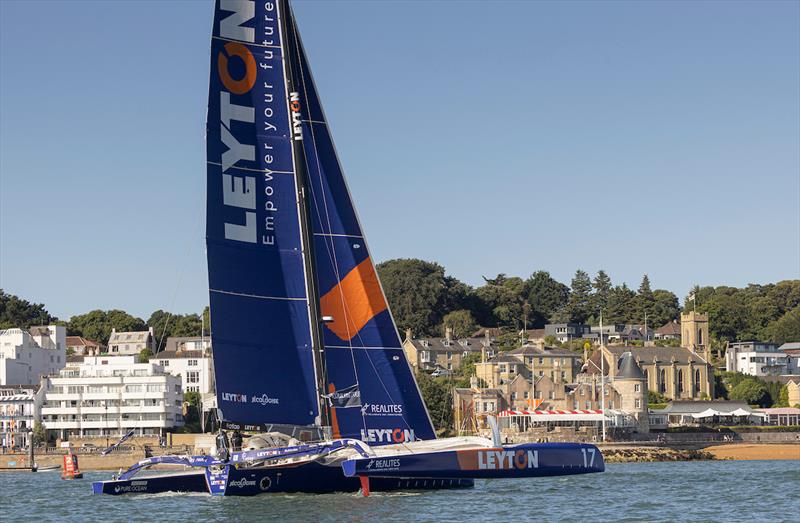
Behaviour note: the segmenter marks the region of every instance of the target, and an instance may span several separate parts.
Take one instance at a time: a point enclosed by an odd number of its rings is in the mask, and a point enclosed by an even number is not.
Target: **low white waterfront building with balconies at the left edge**
[[[43,402],[41,385],[0,388],[0,447],[28,446],[28,433],[40,420]]]

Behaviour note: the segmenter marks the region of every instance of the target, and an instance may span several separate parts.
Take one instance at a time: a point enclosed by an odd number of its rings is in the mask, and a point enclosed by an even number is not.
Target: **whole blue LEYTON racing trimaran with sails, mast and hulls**
[[[375,272],[288,0],[217,0],[207,253],[218,413],[255,434],[155,456],[95,493],[441,489],[601,472],[594,445],[437,439]],[[493,421],[493,420],[492,420]],[[183,470],[143,471],[155,465]],[[174,469],[174,467],[172,467]]]

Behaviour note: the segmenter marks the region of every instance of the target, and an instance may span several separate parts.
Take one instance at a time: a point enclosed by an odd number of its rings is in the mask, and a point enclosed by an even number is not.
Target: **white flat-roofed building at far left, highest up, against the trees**
[[[0,386],[38,385],[67,363],[67,329],[60,325],[0,331]]]

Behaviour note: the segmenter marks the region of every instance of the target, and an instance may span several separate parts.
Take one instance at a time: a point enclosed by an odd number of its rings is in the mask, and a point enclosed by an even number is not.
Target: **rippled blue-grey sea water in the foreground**
[[[800,521],[800,461],[608,465],[603,474],[474,489],[253,498],[95,496],[58,473],[0,473],[0,521]]]

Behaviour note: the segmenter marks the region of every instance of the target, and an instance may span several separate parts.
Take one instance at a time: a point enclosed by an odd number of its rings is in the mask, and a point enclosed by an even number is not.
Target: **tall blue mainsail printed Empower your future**
[[[277,1],[217,0],[207,252],[223,420],[311,425],[318,392]]]

